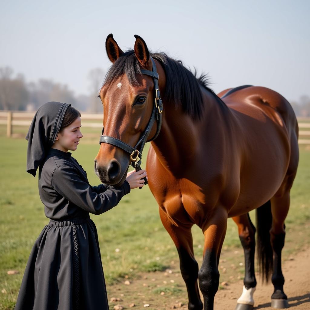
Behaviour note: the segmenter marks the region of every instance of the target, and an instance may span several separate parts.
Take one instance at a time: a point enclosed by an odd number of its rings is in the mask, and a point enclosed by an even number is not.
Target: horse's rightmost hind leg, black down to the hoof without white
[[[288,308],[287,296],[283,291],[284,277],[281,269],[281,251],[285,238],[284,220],[289,206],[289,191],[281,197],[273,197],[271,199],[272,226],[270,229],[270,241],[273,251],[273,273],[271,281],[274,286],[271,305],[274,308]]]

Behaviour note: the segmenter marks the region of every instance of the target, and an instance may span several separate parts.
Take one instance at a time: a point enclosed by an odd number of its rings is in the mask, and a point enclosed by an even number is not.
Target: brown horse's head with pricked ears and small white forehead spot
[[[134,50],[123,52],[113,35],[108,35],[106,51],[113,65],[100,90],[104,110],[103,135],[119,139],[131,147],[135,147],[147,128],[155,99],[153,78],[141,74],[141,69],[152,70],[152,59],[144,40],[137,35],[135,38]],[[157,61],[156,66],[161,79],[159,88],[162,88],[165,74]],[[157,122],[154,122],[149,129],[148,140],[156,132]],[[126,179],[131,161],[130,154],[122,148],[109,142],[101,143],[95,158],[95,173],[103,183],[120,185]]]

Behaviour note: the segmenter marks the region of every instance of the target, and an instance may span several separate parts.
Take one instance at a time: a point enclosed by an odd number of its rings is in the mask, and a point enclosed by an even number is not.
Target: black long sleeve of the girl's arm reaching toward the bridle
[[[76,206],[97,215],[112,209],[124,195],[130,193],[130,185],[125,180],[122,186],[107,188],[98,194],[81,180],[75,168],[69,166],[59,166],[54,170],[51,187]]]

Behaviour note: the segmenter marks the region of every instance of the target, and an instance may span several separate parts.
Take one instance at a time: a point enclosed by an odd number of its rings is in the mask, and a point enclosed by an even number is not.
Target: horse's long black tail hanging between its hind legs
[[[257,256],[259,272],[262,281],[268,283],[272,273],[272,247],[270,243],[270,228],[272,224],[271,203],[268,200],[256,209],[256,229],[257,229]]]

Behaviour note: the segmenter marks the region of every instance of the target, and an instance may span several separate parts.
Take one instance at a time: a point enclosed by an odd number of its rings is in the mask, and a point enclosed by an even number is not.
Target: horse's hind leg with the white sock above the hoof
[[[249,214],[232,218],[238,226],[239,238],[244,250],[245,277],[244,286],[240,298],[237,300],[236,310],[251,310],[254,306],[253,293],[256,287],[254,272],[255,256],[255,227],[251,222]]]

